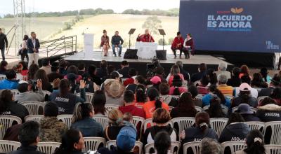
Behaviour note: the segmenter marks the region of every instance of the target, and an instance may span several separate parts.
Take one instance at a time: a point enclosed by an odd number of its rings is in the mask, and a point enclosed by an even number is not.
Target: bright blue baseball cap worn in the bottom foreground
[[[133,127],[123,127],[116,139],[117,147],[123,151],[131,151],[136,142],[136,130]]]

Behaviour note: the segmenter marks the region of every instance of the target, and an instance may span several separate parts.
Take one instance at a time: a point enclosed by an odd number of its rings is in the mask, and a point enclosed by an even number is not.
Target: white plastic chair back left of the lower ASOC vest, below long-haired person
[[[211,128],[218,134],[218,137],[221,136],[221,132],[228,124],[228,118],[210,118]]]

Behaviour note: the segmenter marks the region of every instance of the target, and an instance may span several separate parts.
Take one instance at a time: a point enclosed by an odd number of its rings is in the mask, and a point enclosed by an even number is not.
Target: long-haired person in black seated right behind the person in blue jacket
[[[221,99],[216,96],[210,100],[210,106],[206,112],[209,113],[210,118],[226,118],[226,113],[223,112],[221,106]]]

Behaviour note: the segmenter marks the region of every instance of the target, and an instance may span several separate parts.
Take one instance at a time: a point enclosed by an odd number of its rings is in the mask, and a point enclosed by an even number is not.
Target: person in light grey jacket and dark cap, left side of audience
[[[33,90],[35,88],[37,88],[37,91]],[[44,102],[45,100],[41,80],[37,80],[37,85],[30,84],[25,80],[20,80],[18,83],[18,91],[20,94],[15,94],[15,101],[18,101],[18,103]]]

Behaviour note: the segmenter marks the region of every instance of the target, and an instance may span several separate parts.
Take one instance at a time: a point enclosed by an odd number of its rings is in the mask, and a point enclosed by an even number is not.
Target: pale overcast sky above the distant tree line
[[[178,8],[180,0],[25,0],[25,12],[80,10],[84,8],[113,9],[116,13],[137,10]],[[13,0],[0,0],[0,15],[13,14]]]

